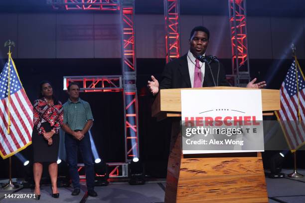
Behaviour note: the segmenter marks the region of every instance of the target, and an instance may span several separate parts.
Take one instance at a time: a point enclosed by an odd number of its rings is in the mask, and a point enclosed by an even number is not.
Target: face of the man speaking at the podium
[[[202,55],[209,44],[208,35],[203,31],[195,31],[189,43],[192,54],[195,56]]]

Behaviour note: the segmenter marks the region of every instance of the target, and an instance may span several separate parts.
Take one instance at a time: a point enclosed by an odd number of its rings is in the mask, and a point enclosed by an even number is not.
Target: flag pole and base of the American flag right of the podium
[[[296,64],[296,77],[297,77],[297,95],[298,95],[298,118],[299,121],[301,122],[301,115],[300,115],[300,98],[299,98],[299,78],[298,78],[298,60],[297,60],[297,55],[296,55],[296,46],[294,44],[291,45],[291,49],[293,51],[293,55],[295,58],[295,64]],[[298,123],[296,123],[298,124]],[[302,178],[303,175],[298,173],[297,170],[297,150],[292,151],[294,154],[294,172],[289,174],[288,177],[290,178]]]

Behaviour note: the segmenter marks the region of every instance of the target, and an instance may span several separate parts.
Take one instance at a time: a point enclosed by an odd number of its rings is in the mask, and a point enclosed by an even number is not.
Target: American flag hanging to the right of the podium
[[[290,149],[297,150],[305,143],[305,79],[297,59],[288,70],[280,94],[281,110],[276,111],[276,115]]]

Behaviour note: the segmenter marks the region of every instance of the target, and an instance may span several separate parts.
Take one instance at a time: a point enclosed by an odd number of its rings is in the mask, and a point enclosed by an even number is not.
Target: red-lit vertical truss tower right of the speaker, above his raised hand
[[[246,15],[246,0],[229,0],[232,74],[237,76],[238,87],[250,82]]]

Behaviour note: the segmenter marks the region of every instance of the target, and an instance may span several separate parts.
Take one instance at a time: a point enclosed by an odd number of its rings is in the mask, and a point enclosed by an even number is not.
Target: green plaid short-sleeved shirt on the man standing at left
[[[82,130],[88,120],[93,120],[90,104],[80,98],[76,103],[68,99],[63,104],[63,110],[63,123],[67,124],[71,130]]]

